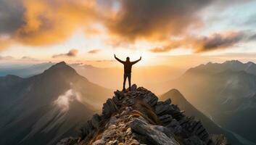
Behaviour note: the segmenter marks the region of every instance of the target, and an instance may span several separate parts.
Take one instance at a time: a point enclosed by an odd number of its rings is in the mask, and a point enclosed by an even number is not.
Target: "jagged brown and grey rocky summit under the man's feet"
[[[150,144],[226,145],[223,135],[212,135],[195,117],[170,99],[159,101],[151,91],[136,85],[115,91],[103,104],[102,115],[93,115],[80,128],[78,138],[64,138],[58,145]]]

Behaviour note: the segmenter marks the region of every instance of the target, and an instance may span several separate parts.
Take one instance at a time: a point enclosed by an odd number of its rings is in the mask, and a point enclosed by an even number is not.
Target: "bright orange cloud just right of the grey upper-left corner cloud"
[[[25,13],[15,35],[18,41],[34,46],[59,43],[93,21],[93,1],[23,0]]]

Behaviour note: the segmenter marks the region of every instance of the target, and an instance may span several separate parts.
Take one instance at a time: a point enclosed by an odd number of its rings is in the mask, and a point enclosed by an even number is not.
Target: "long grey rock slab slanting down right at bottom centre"
[[[154,129],[153,125],[146,124],[139,119],[133,120],[130,126],[135,133],[145,136],[145,138],[152,142],[152,144],[178,145],[178,142],[172,136],[166,136],[166,134],[162,133],[160,130]]]

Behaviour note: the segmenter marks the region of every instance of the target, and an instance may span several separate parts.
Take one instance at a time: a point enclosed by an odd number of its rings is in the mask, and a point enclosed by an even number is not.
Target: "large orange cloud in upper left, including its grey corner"
[[[96,20],[95,4],[94,0],[0,0],[0,36],[28,46],[65,41]]]

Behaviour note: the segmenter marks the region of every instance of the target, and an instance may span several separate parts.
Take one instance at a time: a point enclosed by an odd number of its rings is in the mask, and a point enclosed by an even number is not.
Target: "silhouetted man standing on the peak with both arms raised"
[[[115,56],[115,54],[114,54]],[[117,59],[118,62],[123,63],[123,70],[124,70],[124,74],[123,74],[123,91],[125,91],[125,83],[126,83],[126,78],[128,78],[129,81],[129,91],[131,90],[131,67],[136,64],[137,62],[139,62],[141,60],[141,57],[134,61],[134,62],[130,62],[130,57],[126,57],[126,61],[122,61],[120,59],[118,59],[117,57],[115,57],[115,59]]]

